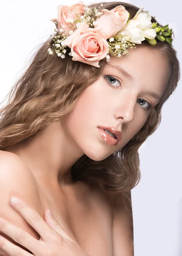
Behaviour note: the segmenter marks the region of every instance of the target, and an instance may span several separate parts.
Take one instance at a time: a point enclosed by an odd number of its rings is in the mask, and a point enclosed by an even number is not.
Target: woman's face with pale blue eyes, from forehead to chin
[[[151,112],[150,105],[154,108],[160,101],[151,93],[162,96],[168,82],[168,63],[158,51],[148,47],[129,52],[121,58],[111,57],[66,118],[68,136],[93,160],[105,159],[137,134]],[[121,131],[122,140],[109,145],[100,136],[100,126]]]

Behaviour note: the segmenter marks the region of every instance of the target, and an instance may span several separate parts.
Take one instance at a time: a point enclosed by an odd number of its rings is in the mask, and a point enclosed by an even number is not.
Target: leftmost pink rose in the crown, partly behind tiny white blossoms
[[[85,4],[83,1],[80,1],[76,4],[73,4],[72,6],[63,6],[59,5],[57,6],[58,10],[58,19],[51,19],[52,22],[57,22],[57,29],[64,29],[65,32],[68,32],[70,29],[74,31],[74,28],[70,28],[73,24],[69,23],[70,26],[67,25],[68,22],[66,22],[67,19],[75,19],[77,15],[82,15],[85,13],[85,10],[83,7]],[[74,24],[75,25],[75,24]],[[65,33],[66,34],[66,33]]]

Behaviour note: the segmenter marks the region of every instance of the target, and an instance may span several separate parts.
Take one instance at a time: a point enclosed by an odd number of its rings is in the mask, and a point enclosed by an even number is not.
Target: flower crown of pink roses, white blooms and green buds
[[[142,44],[144,40],[151,45],[157,43],[156,39],[172,44],[172,29],[152,23],[151,15],[143,9],[129,20],[130,14],[122,5],[101,12],[100,7],[91,9],[82,1],[70,7],[59,5],[58,19],[51,19],[56,25],[56,35],[48,53],[55,51],[61,58],[67,53],[73,61],[100,67],[101,59],[106,57],[109,61],[110,55],[129,55],[128,48],[136,49],[135,44]]]

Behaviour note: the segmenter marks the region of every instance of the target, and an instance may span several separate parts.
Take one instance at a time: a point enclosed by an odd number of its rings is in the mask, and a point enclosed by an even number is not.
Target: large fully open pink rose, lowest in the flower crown
[[[81,61],[95,67],[99,61],[108,54],[108,42],[105,34],[90,28],[88,24],[81,22],[74,33],[69,35],[64,43],[71,48],[73,61]]]

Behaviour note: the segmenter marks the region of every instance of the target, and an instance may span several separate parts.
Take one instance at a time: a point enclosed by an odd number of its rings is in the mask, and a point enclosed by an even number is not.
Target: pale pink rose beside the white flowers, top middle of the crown
[[[95,29],[102,30],[106,38],[111,38],[120,30],[124,29],[127,23],[129,12],[124,6],[116,6],[111,11],[102,9],[103,14],[96,20]]]

